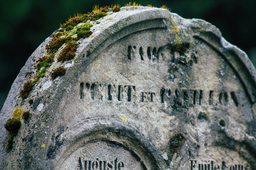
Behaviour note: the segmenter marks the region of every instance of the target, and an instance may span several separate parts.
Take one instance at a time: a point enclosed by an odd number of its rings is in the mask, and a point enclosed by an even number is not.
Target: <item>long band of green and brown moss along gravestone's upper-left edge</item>
[[[28,82],[24,83],[23,89],[20,90],[20,96],[23,99],[28,97],[29,92],[33,89],[36,82],[45,76],[47,68],[51,66],[52,62],[54,62],[54,55],[56,52],[58,52],[63,44],[67,43],[65,48],[61,50],[60,55],[58,56],[58,61],[73,59],[76,56],[76,41],[79,38],[88,38],[90,35],[92,35],[92,31],[90,31],[92,24],[89,24],[89,22],[99,20],[99,18],[108,15],[108,12],[110,11],[120,11],[120,5],[115,4],[111,7],[105,6],[101,8],[99,8],[99,6],[94,6],[92,12],[86,14],[77,14],[74,17],[68,18],[67,22],[64,24],[61,24],[61,29],[56,32],[56,34],[52,35],[50,43],[45,46],[48,55],[38,60],[38,64],[36,65],[37,71],[33,76],[33,80],[29,80]],[[77,24],[79,23],[85,24],[77,27]],[[58,76],[61,74],[65,74],[65,71],[63,72],[62,70],[61,72],[61,70],[59,70],[56,71],[56,73],[53,71],[51,76],[52,78],[56,78],[56,75]]]

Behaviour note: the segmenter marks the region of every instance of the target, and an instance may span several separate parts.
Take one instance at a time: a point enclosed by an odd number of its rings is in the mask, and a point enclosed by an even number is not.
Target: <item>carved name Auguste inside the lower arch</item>
[[[79,157],[78,167],[79,170],[122,170],[125,165],[124,162],[120,162],[117,157],[113,161],[99,160],[98,158],[96,160],[82,160],[81,157]]]

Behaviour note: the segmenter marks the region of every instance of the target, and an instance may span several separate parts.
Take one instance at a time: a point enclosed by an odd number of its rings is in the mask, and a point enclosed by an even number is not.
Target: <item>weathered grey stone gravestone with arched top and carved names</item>
[[[90,31],[24,99],[52,36],[22,67],[1,110],[1,169],[256,169],[255,68],[214,25],[129,6]],[[16,108],[31,116],[7,153]]]

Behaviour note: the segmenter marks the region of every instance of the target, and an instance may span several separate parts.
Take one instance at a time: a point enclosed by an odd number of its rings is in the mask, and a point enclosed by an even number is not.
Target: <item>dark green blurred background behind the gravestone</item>
[[[0,1],[0,109],[8,91],[29,55],[76,13],[92,11],[95,4],[106,6],[129,1],[8,0]],[[223,37],[244,50],[256,66],[255,0],[150,0],[141,5],[165,4],[184,18],[202,18],[216,25]]]

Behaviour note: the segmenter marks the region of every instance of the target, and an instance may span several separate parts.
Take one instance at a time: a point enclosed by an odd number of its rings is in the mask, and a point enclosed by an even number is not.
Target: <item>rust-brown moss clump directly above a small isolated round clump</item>
[[[77,42],[76,41],[68,41],[67,45],[60,52],[58,57],[58,61],[70,60],[74,59],[76,56]]]

